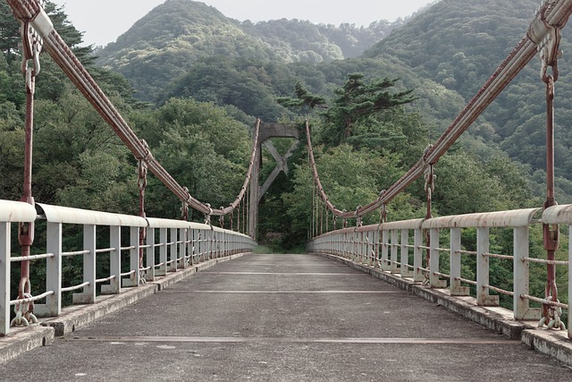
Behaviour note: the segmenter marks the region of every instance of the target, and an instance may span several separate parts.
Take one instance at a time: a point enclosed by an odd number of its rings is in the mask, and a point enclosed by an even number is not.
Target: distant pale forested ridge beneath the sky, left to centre
[[[331,62],[360,55],[401,23],[379,21],[367,28],[285,19],[241,23],[204,3],[167,0],[99,51],[97,62],[121,72],[139,98],[156,101],[159,91],[201,59]]]

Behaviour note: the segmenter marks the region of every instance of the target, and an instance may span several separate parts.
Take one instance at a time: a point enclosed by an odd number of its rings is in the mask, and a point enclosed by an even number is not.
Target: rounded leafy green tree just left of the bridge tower
[[[192,99],[172,98],[154,112],[135,115],[154,157],[191,195],[213,208],[234,201],[248,169],[248,126],[223,108]],[[151,216],[181,216],[180,201],[152,175],[147,195]]]

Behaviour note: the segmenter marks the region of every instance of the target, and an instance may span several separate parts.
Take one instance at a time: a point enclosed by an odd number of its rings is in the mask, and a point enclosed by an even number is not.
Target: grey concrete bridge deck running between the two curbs
[[[572,369],[333,259],[251,255],[0,365],[16,378],[523,381]]]

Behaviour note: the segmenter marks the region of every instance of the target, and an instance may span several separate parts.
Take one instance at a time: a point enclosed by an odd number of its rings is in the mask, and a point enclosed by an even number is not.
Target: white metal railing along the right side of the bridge
[[[569,237],[572,237],[572,205],[555,206],[542,211],[542,208],[489,212],[460,216],[442,216],[431,219],[416,219],[400,222],[344,228],[324,233],[308,243],[308,251],[326,253],[345,259],[380,268],[391,274],[408,277],[412,282],[427,284],[433,288],[450,288],[451,296],[469,294],[469,286],[476,289],[476,304],[498,306],[499,294],[513,297],[514,318],[539,319],[542,309],[531,308],[530,301],[568,309],[568,303],[549,301],[531,296],[529,293],[529,266],[532,263],[555,264],[566,267],[568,271],[568,300],[572,295],[572,267],[569,261],[549,261],[533,259],[529,255],[530,228],[532,225],[568,225]],[[540,216],[539,216],[540,217]],[[464,229],[475,229],[476,250],[463,250],[461,233]],[[490,229],[512,230],[512,254],[491,253]],[[428,236],[426,236],[428,235]],[[450,237],[448,248],[440,248],[440,240]],[[426,237],[430,244],[426,244]],[[568,239],[569,240],[569,239]],[[442,245],[442,244],[441,244]],[[568,259],[572,257],[572,243],[568,242]],[[429,251],[429,259],[425,251]],[[440,259],[447,256],[450,269],[448,273],[440,268]],[[461,257],[475,258],[475,279],[461,276]],[[411,258],[413,265],[411,265]],[[513,264],[511,291],[489,283],[490,259],[511,260]],[[564,274],[565,272],[562,272]],[[562,285],[560,285],[562,286]],[[490,294],[493,291],[497,294]],[[568,302],[568,301],[567,301]],[[572,338],[572,315],[568,314],[568,337]]]

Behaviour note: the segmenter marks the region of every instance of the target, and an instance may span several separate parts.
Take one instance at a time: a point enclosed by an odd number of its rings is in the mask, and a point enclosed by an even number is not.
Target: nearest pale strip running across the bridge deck
[[[303,338],[303,337],[202,337],[202,336],[66,336],[66,342],[137,342],[206,344],[521,344],[502,338]]]

